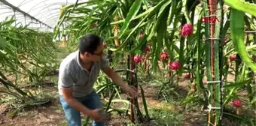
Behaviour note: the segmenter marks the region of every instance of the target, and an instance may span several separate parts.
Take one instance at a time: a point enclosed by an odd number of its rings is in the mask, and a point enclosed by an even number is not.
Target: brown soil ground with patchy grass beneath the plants
[[[179,93],[186,94],[181,85]],[[145,123],[143,125],[182,125],[182,126],[203,126],[206,124],[207,113],[202,112],[198,106],[196,108],[190,108],[186,110],[184,106],[180,106],[175,103],[165,103],[163,99],[157,99],[157,91],[159,86],[143,85],[145,90],[145,98],[148,104],[149,113],[155,120]],[[53,101],[50,104],[46,104],[41,107],[32,107],[23,112],[18,113],[14,118],[8,118],[7,112],[0,115],[0,125],[3,126],[62,126],[67,125],[64,114],[62,113],[62,107],[59,104],[56,87],[46,87],[45,91],[51,92],[54,96]],[[244,94],[245,92],[241,92]],[[123,97],[125,98],[125,97]],[[139,106],[143,107],[142,100],[139,98]],[[1,105],[2,109],[4,108]],[[1,108],[0,107],[0,108]],[[118,105],[117,105],[118,107]],[[142,108],[143,109],[143,108]],[[246,114],[249,110],[242,110],[242,113]],[[253,114],[252,112],[250,112]],[[155,114],[155,115],[153,115]],[[253,117],[256,118],[255,116]],[[165,120],[166,119],[166,120]],[[168,121],[169,119],[169,121]],[[84,118],[85,120],[85,118]],[[129,118],[122,118],[120,115],[112,115],[110,124],[113,126],[127,125],[125,121],[129,121]],[[163,122],[162,124],[160,124]],[[177,124],[175,124],[177,123]],[[224,118],[223,123],[227,126],[239,126],[239,122],[230,118]]]

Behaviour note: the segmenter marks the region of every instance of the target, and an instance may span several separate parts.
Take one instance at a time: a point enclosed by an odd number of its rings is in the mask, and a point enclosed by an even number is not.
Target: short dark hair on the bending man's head
[[[86,34],[81,37],[79,42],[79,52],[84,54],[84,52],[92,53],[97,49],[97,47],[102,44],[102,38],[96,34]]]

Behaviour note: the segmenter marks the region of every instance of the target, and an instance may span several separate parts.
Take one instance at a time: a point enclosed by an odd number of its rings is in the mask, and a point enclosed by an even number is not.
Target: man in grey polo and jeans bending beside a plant
[[[136,89],[126,85],[108,66],[104,56],[102,38],[95,34],[81,37],[78,51],[64,58],[59,66],[59,98],[69,126],[81,126],[81,115],[93,119],[93,126],[103,126],[99,114],[102,103],[93,89],[93,84],[102,70],[124,92],[136,98]]]

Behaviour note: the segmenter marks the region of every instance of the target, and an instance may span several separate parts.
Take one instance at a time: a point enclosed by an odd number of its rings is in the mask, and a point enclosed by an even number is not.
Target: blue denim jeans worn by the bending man
[[[69,126],[81,126],[80,112],[70,107],[69,104],[66,103],[62,95],[59,95],[59,98],[62,109],[64,110],[64,113],[66,115],[66,121],[68,121]],[[99,95],[97,95],[95,91],[91,92],[90,95],[76,99],[90,110],[102,108],[102,102],[99,99]],[[104,126],[104,123],[93,121],[93,126]]]

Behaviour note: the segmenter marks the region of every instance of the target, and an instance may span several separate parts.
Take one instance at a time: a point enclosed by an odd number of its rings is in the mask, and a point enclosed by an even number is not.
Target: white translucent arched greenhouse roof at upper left
[[[6,1],[23,12],[28,13],[30,16],[35,17],[35,19],[32,20],[29,16],[25,18],[23,13],[6,5]],[[15,19],[21,24],[33,22],[31,27],[54,28],[59,18],[60,7],[62,5],[75,4],[76,1],[77,0],[0,0],[0,22],[5,20],[6,17],[12,17],[15,14]],[[87,0],[78,0],[78,2],[83,1]]]

